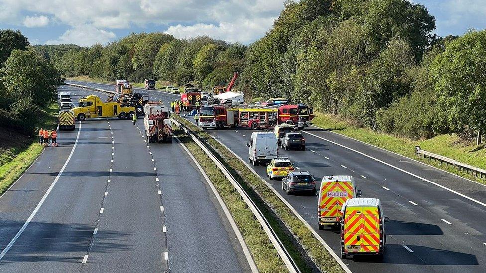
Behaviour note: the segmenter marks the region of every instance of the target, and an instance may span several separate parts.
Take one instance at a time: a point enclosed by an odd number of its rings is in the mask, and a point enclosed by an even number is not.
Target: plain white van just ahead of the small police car
[[[260,162],[268,163],[278,157],[277,137],[273,132],[253,132],[246,146],[249,147],[250,162],[255,166]]]

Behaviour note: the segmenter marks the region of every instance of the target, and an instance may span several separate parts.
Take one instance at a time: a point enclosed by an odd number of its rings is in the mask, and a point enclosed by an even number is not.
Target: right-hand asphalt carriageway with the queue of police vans
[[[113,85],[74,82],[114,90]],[[180,95],[134,89],[165,103]],[[193,122],[193,118],[188,118]],[[252,130],[207,130],[248,163]],[[363,197],[380,198],[387,242],[382,261],[371,257],[343,260],[353,272],[486,272],[486,187],[412,159],[310,126],[303,131],[306,151],[284,151],[299,171],[320,182],[326,175],[352,175]],[[411,147],[412,149],[412,147]],[[266,168],[253,168],[339,252],[339,231],[317,228],[317,197],[286,195],[281,182],[268,180]]]

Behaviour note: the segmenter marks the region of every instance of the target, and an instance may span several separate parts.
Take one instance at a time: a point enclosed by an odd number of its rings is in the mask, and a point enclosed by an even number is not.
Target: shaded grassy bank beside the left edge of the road
[[[38,110],[41,118],[37,127],[54,129],[57,126],[57,103]],[[37,133],[25,136],[11,129],[1,128],[0,133],[0,195],[15,182],[42,153]]]

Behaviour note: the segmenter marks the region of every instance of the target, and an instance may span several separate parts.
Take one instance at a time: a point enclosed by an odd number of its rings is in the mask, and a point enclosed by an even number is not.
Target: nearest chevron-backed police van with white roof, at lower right
[[[348,199],[341,212],[341,257],[361,254],[383,257],[388,217],[383,217],[380,199]]]

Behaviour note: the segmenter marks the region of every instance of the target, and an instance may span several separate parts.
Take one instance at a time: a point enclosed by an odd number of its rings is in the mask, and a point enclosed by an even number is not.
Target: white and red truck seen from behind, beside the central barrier
[[[162,102],[149,102],[144,107],[143,125],[147,142],[172,142],[169,108]]]

